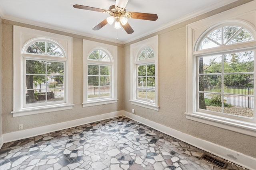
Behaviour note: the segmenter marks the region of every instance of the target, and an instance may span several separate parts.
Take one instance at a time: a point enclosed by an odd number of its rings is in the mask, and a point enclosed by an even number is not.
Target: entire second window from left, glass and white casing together
[[[83,106],[116,103],[117,100],[117,47],[84,40]]]

